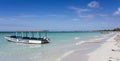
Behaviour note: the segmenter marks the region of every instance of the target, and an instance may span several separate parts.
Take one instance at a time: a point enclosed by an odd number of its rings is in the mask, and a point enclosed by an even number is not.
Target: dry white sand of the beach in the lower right
[[[120,61],[120,49],[117,45],[115,38],[118,34],[108,39],[97,50],[88,54],[88,61]],[[112,51],[113,50],[113,51]]]

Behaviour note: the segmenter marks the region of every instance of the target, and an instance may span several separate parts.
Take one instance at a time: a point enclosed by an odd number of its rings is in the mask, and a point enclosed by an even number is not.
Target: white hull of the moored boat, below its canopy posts
[[[48,40],[45,40],[43,38],[37,39],[37,38],[22,38],[22,37],[10,37],[5,36],[5,39],[9,42],[15,42],[15,43],[26,43],[26,44],[45,44],[49,43]]]

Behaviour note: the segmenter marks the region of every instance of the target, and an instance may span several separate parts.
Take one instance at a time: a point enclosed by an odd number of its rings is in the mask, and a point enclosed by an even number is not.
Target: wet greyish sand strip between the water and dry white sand
[[[99,53],[97,50],[98,49],[101,49],[101,47],[109,41],[109,40],[113,40],[114,37],[116,36],[117,34],[112,34],[112,35],[109,35],[109,37],[107,38],[103,38],[101,40],[98,40],[98,41],[90,41],[90,42],[85,42],[83,43],[82,45],[78,45],[77,47],[78,48],[75,48],[75,50],[71,50],[68,52],[68,54],[65,55],[65,57],[60,60],[56,60],[56,61],[93,61],[93,59],[95,59],[97,55],[97,53]],[[86,49],[84,50],[80,50],[79,48],[82,48],[83,47],[87,47]],[[96,55],[94,55],[96,54]],[[64,56],[64,55],[63,55]],[[94,60],[94,61],[98,61],[98,60]],[[100,61],[104,61],[104,60],[100,60]],[[108,61],[108,60],[107,60]]]

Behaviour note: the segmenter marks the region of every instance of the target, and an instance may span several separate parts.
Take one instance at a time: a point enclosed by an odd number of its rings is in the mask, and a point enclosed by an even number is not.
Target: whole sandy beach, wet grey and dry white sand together
[[[117,35],[118,33],[102,39],[104,42],[92,41],[76,46],[77,48],[61,56],[61,59],[56,61],[120,61],[120,52],[112,51],[112,49],[120,49],[115,45],[116,40],[114,38]],[[84,49],[84,47],[86,48]]]

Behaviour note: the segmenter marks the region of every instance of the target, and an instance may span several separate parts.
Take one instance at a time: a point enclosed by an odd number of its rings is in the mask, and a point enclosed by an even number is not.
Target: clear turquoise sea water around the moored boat
[[[53,61],[80,41],[99,38],[100,32],[49,32],[49,44],[12,43],[0,33],[0,61]]]

